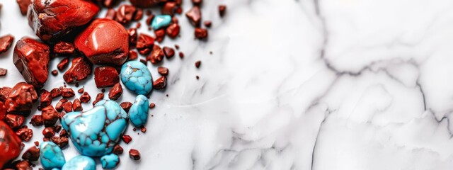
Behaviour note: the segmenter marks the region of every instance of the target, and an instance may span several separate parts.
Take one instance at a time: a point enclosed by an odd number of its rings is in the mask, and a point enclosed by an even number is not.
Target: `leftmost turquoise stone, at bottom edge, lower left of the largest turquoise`
[[[66,162],[62,149],[60,149],[54,142],[41,143],[40,159],[44,169],[61,169]]]

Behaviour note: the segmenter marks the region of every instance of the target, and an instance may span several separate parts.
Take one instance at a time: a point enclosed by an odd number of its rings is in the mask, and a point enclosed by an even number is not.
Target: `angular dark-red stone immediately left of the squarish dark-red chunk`
[[[86,57],[76,57],[72,60],[71,68],[63,74],[63,79],[68,84],[86,79],[91,74],[91,62]]]

